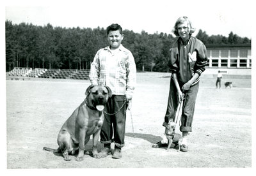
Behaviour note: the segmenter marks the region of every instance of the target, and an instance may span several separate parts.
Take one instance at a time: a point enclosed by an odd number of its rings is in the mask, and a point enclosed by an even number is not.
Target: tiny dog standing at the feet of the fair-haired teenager
[[[179,149],[177,149],[179,151],[183,138],[182,138],[182,136],[180,134],[175,133],[175,126],[176,126],[175,122],[170,120],[168,122],[168,124],[166,122],[164,122],[163,126],[165,127],[164,135],[168,139],[168,147],[167,147],[166,150],[169,151],[170,148],[171,148],[171,145],[173,143],[175,145],[174,147],[179,145]]]

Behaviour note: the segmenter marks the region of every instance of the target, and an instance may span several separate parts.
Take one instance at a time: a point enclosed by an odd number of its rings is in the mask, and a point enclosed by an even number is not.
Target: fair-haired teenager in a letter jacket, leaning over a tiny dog
[[[179,36],[170,48],[169,68],[172,73],[168,106],[164,124],[170,119],[174,122],[177,106],[183,100],[181,126],[182,145],[180,150],[188,151],[188,133],[192,131],[192,121],[195,110],[199,78],[207,64],[207,51],[204,43],[193,37],[195,32],[188,17],[180,17],[175,22],[174,34]],[[164,126],[163,124],[163,126]],[[163,147],[168,142],[166,138],[152,145]]]

